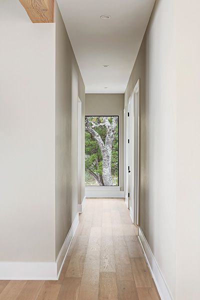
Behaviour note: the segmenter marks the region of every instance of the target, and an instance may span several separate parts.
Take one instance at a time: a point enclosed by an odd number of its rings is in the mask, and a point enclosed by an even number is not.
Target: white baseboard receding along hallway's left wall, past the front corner
[[[59,251],[59,254],[57,256],[57,259],[56,259],[56,269],[57,269],[57,279],[59,279],[59,275],[60,275],[60,272],[61,272],[61,269],[62,269],[62,266],[63,266],[63,263],[64,263],[64,260],[65,260],[65,257],[66,257],[66,254],[67,254],[67,251],[68,251],[68,248],[70,246],[70,243],[71,243],[71,240],[73,238],[73,235],[75,233],[75,230],[77,228],[77,225],[79,223],[79,214],[78,212],[76,213],[76,216],[73,220],[73,223],[69,229],[69,232],[64,240],[64,243]]]

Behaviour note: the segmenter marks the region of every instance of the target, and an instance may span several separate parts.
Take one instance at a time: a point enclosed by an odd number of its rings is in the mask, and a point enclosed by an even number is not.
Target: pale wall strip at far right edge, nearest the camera
[[[199,11],[176,0],[176,300],[200,299]]]

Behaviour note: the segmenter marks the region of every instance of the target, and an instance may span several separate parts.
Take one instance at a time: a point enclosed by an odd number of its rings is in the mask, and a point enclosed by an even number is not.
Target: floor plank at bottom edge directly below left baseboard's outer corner
[[[61,284],[53,284],[45,281],[39,290],[36,300],[56,300],[60,287]]]

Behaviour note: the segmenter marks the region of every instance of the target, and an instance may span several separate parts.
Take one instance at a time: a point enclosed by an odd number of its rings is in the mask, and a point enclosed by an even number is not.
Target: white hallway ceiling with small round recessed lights
[[[123,93],[155,0],[57,2],[85,92]],[[100,19],[103,14],[111,18]],[[103,64],[109,67],[103,68]]]

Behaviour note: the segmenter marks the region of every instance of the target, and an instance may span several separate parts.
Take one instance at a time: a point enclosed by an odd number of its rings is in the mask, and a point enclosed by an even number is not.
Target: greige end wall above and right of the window
[[[119,186],[123,190],[123,94],[85,94],[85,115],[119,115]]]

